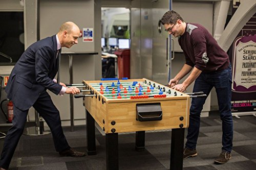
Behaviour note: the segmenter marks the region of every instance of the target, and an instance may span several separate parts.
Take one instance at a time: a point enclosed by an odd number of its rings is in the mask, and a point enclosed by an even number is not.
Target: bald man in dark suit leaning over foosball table
[[[46,90],[54,94],[77,94],[76,87],[67,88],[57,83],[54,77],[58,71],[58,58],[61,47],[70,48],[78,43],[80,29],[73,22],[61,25],[57,35],[47,37],[30,45],[15,64],[9,77],[6,92],[13,102],[13,126],[9,129],[4,142],[0,169],[8,169],[23,133],[28,110],[34,107],[51,129],[55,149],[61,156],[82,157],[85,154],[74,151],[68,144],[61,127],[58,109],[54,106]]]

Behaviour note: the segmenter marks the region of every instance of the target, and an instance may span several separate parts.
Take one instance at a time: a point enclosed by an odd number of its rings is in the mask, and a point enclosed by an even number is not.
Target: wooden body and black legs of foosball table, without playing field
[[[127,81],[149,82],[150,80],[133,79]],[[170,169],[182,170],[184,128],[187,128],[189,123],[189,95],[182,93],[181,96],[168,96],[167,98],[158,99],[110,100],[90,85],[90,83],[99,82],[102,81],[83,81],[86,84],[84,89],[90,89],[96,94],[95,97],[87,97],[83,101],[83,105],[86,108],[88,155],[96,155],[95,122],[105,132],[106,169],[119,168],[119,132],[136,132],[135,148],[137,151],[144,151],[146,130],[172,129]],[[154,83],[156,87],[159,85],[165,87],[156,82],[150,82]],[[165,88],[168,89],[168,87]],[[84,92],[83,94],[90,94],[90,92]],[[139,122],[136,120],[136,104],[139,103],[161,103],[163,119],[160,121]]]

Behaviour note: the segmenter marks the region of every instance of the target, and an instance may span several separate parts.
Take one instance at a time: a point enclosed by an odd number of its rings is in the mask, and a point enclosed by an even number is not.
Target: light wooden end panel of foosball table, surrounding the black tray
[[[187,98],[189,100],[189,98]],[[139,103],[161,103],[163,112],[162,120],[139,122],[136,120],[136,104]],[[111,133],[111,129],[115,128],[116,132],[134,132],[146,130],[160,130],[188,127],[188,102],[185,99],[171,101],[154,101],[154,102],[125,102],[125,103],[109,103],[108,119],[109,129],[105,129],[105,133]],[[180,116],[183,120],[180,120]],[[111,125],[114,120],[116,124]]]

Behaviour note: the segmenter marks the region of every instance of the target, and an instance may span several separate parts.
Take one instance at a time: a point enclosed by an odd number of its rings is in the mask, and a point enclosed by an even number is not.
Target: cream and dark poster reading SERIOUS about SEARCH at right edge
[[[255,111],[256,35],[238,37],[232,58],[232,112]]]

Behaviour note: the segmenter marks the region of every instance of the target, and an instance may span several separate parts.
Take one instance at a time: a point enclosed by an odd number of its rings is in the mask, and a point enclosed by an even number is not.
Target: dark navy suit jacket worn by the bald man
[[[62,86],[54,83],[58,71],[56,35],[30,45],[15,64],[6,92],[15,107],[29,109],[39,95],[49,89],[59,94]]]

